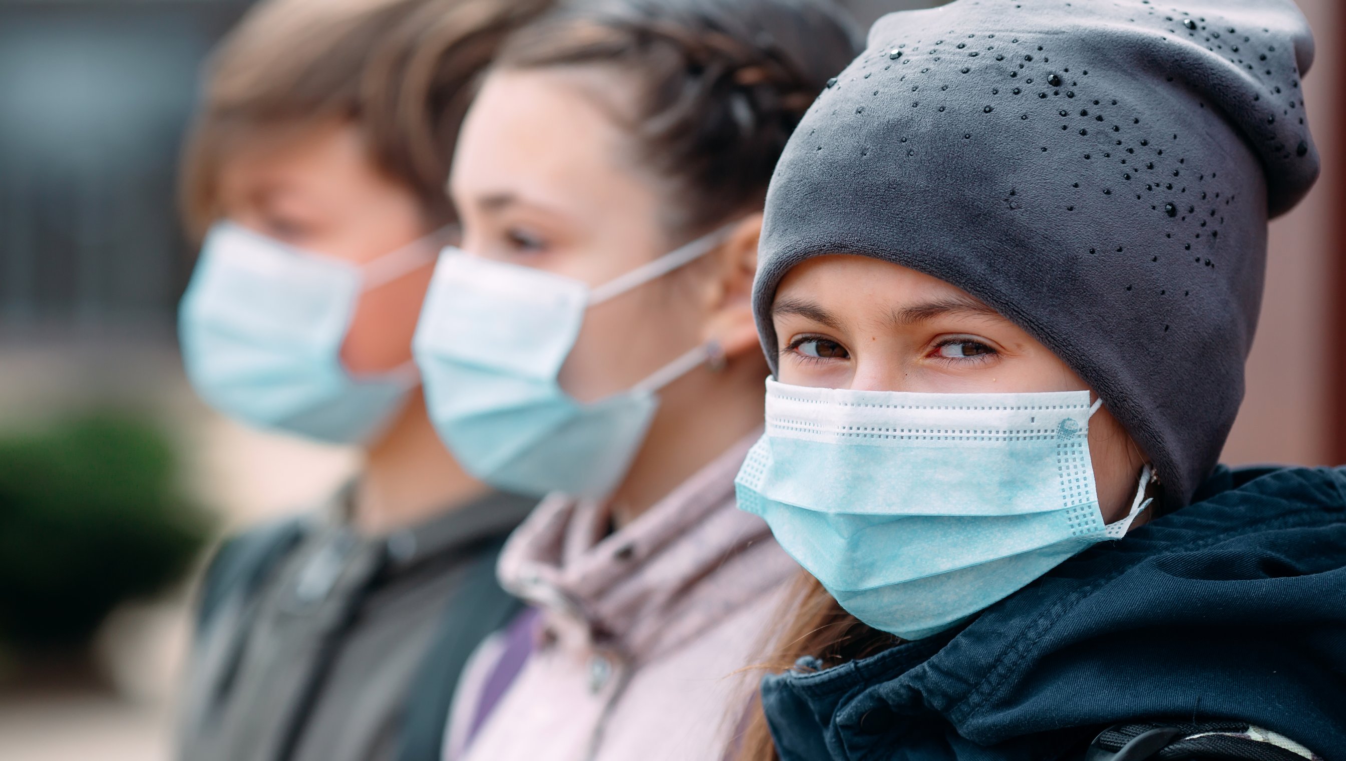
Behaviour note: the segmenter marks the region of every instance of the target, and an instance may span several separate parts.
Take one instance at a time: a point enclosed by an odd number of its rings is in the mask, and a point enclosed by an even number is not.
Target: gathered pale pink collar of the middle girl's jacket
[[[506,544],[502,583],[575,647],[641,659],[688,641],[798,570],[766,524],[735,506],[734,478],[756,438],[612,533],[608,505],[548,497]],[[750,570],[728,572],[744,554]]]

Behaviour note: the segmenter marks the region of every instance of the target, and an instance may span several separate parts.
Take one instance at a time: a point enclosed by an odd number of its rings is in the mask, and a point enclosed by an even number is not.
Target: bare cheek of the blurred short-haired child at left
[[[342,364],[354,374],[397,369],[412,358],[412,337],[429,286],[431,267],[366,291],[342,343]]]

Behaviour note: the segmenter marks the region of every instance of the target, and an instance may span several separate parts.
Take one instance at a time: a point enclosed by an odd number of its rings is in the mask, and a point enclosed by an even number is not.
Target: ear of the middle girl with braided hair
[[[762,214],[739,221],[716,252],[719,267],[709,291],[704,339],[715,342],[725,358],[759,352],[752,318],[752,277],[756,275]]]

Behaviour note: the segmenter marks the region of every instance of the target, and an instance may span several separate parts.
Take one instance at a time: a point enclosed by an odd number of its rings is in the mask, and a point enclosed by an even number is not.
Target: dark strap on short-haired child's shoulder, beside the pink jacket
[[[440,761],[450,704],[476,647],[502,629],[524,603],[501,589],[495,562],[503,540],[491,541],[468,567],[448,603],[406,695],[397,761]]]

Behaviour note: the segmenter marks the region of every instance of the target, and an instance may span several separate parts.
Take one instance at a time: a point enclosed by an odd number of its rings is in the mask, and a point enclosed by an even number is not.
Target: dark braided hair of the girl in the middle
[[[495,66],[629,74],[637,159],[670,180],[672,224],[700,233],[760,209],[790,133],[859,50],[829,0],[591,0],[517,31]]]

